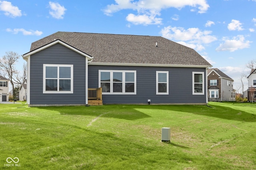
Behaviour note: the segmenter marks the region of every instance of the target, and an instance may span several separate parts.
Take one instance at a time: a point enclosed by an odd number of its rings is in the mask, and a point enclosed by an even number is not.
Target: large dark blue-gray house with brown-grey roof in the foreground
[[[57,32],[23,58],[29,106],[86,105],[91,88],[102,90],[104,104],[208,102],[211,64],[159,36]]]

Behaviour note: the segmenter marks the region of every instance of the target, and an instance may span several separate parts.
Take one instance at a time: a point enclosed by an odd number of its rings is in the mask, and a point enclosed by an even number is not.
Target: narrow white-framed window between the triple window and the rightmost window
[[[169,72],[156,71],[156,94],[168,95],[169,94]]]

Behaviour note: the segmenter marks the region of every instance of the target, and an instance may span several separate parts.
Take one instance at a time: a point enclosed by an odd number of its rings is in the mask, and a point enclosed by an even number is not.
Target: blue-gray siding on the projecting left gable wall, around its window
[[[73,94],[43,94],[43,64],[73,64]],[[30,57],[30,105],[85,104],[86,58],[56,44]]]

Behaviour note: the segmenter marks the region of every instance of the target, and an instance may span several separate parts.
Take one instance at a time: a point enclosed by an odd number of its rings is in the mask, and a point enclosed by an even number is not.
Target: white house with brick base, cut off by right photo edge
[[[256,101],[256,69],[252,69],[247,78],[249,81],[248,102]]]

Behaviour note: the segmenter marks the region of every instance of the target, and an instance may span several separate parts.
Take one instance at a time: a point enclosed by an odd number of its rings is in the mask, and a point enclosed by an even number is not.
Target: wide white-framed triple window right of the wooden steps
[[[99,70],[102,94],[136,94],[135,70]]]

